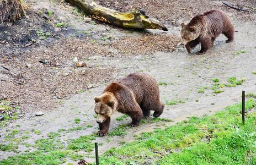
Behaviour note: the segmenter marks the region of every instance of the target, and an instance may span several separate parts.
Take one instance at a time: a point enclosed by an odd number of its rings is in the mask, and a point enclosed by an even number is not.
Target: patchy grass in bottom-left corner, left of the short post
[[[63,164],[67,158],[73,161],[83,160],[84,156],[77,151],[84,150],[90,152],[94,148],[94,135],[80,136],[68,141],[68,145],[63,145],[58,137],[58,133],[48,134],[49,138],[35,141],[33,146],[23,143],[26,147],[33,147],[35,151],[25,152],[17,156],[9,156],[0,164]],[[0,144],[0,150],[17,152],[18,146],[14,143],[8,145]],[[29,151],[29,150],[28,150]]]

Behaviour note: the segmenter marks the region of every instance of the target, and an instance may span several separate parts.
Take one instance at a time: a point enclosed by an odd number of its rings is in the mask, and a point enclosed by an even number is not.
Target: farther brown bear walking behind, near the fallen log
[[[201,50],[197,54],[206,53],[214,45],[214,40],[220,34],[225,35],[228,40],[234,40],[234,26],[227,14],[221,10],[209,10],[203,14],[195,15],[188,24],[182,23],[182,42],[191,53],[191,48],[201,43]]]

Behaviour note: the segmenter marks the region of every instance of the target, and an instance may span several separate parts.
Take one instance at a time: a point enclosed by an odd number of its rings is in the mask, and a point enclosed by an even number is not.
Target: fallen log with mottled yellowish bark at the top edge
[[[148,18],[139,9],[129,13],[121,13],[113,9],[105,8],[90,0],[66,0],[77,5],[87,15],[114,26],[132,29],[161,29],[167,31],[167,27],[159,20]]]

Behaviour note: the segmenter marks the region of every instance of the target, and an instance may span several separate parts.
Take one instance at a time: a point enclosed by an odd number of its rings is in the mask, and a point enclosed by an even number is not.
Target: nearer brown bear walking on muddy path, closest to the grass
[[[151,110],[154,111],[154,117],[159,117],[164,108],[160,102],[156,79],[150,74],[139,72],[110,83],[102,95],[94,97],[94,100],[94,111],[100,129],[97,133],[99,136],[108,133],[110,116],[115,111],[130,116],[131,127],[136,127],[142,118],[150,116]]]

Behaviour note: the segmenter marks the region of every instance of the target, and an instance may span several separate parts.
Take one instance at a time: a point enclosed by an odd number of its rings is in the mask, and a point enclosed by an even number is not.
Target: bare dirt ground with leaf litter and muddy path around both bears
[[[61,138],[63,141],[97,132],[94,96],[99,96],[106,84],[133,72],[150,73],[162,83],[161,101],[167,105],[161,118],[175,122],[221,111],[241,101],[242,90],[256,92],[256,75],[252,74],[256,72],[255,1],[225,1],[245,11],[229,8],[222,1],[95,2],[120,12],[141,7],[148,17],[158,18],[166,25],[168,31],[121,29],[103,24],[82,15],[65,1],[26,1],[25,18],[0,24],[0,100],[2,104],[9,101],[8,105],[13,107],[13,111],[0,113],[19,116],[1,128],[0,143],[6,143],[4,131],[16,129],[17,124],[20,132],[41,130],[41,135],[35,134],[28,140],[31,143],[61,128],[93,126],[67,134]],[[180,45],[179,25],[214,8],[231,18],[235,41],[225,43],[226,38],[221,35],[206,54],[195,54],[200,46],[189,54]],[[62,26],[58,27],[58,23]],[[76,59],[87,65],[76,67]],[[212,79],[227,84],[231,77],[245,81],[239,86],[221,88],[224,92],[220,94],[212,93]],[[184,103],[168,105],[172,100]],[[35,116],[39,111],[44,115]],[[130,118],[115,120],[119,116],[116,113],[112,118],[111,128],[130,122]],[[75,124],[76,118],[83,123]],[[106,136],[95,141],[103,143],[99,147],[102,153],[119,147],[121,141],[134,140],[134,134],[175,122],[147,122],[138,128],[127,128],[126,136]],[[0,160],[16,154],[0,151]]]

